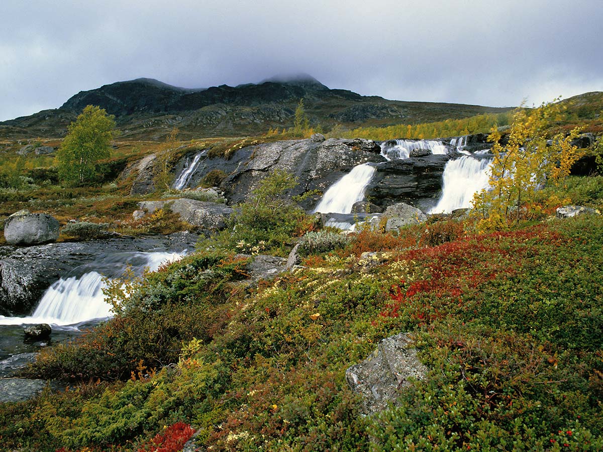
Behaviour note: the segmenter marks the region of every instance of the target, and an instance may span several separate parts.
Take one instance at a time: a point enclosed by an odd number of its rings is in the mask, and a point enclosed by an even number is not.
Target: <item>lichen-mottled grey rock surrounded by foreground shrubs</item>
[[[346,370],[350,389],[362,397],[362,412],[376,413],[388,402],[395,403],[399,391],[411,378],[425,378],[428,369],[421,364],[407,334],[400,333],[379,342],[377,350]]]

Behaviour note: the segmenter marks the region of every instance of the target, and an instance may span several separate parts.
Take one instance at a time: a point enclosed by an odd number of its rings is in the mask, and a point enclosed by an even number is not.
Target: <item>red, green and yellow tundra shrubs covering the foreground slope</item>
[[[511,130],[543,111],[519,111]],[[113,319],[43,351],[25,374],[68,390],[0,405],[2,447],[176,452],[195,432],[212,451],[603,450],[603,222],[554,218],[562,200],[601,208],[603,176],[541,183],[508,196],[525,215],[491,201],[342,238],[277,172],[196,253],[110,285]],[[297,237],[301,268],[248,281],[241,252],[284,255]],[[429,373],[362,416],[344,372],[400,331]]]

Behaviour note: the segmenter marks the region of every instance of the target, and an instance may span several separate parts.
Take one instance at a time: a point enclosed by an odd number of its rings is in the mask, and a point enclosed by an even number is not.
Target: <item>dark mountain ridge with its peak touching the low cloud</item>
[[[120,81],[82,91],[60,108],[0,122],[0,137],[61,137],[86,105],[115,115],[121,137],[158,140],[178,127],[182,137],[241,136],[291,127],[303,98],[311,125],[416,124],[499,113],[509,108],[436,102],[391,101],[330,89],[308,74],[276,77],[235,87],[186,89],[151,78]]]

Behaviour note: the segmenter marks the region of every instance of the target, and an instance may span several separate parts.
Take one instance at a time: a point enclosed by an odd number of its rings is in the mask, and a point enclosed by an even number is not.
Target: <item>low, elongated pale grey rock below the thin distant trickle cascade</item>
[[[233,213],[232,207],[218,202],[195,201],[195,199],[180,198],[165,201],[142,201],[138,203],[141,210],[149,213],[157,209],[169,209],[186,221],[202,230],[219,230],[226,226],[226,221]]]

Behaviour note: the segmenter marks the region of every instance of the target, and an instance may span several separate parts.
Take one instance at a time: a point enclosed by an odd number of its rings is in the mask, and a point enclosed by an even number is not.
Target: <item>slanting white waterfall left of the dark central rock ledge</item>
[[[364,199],[364,192],[376,169],[368,163],[355,166],[324,193],[314,212],[350,213],[356,201]]]

